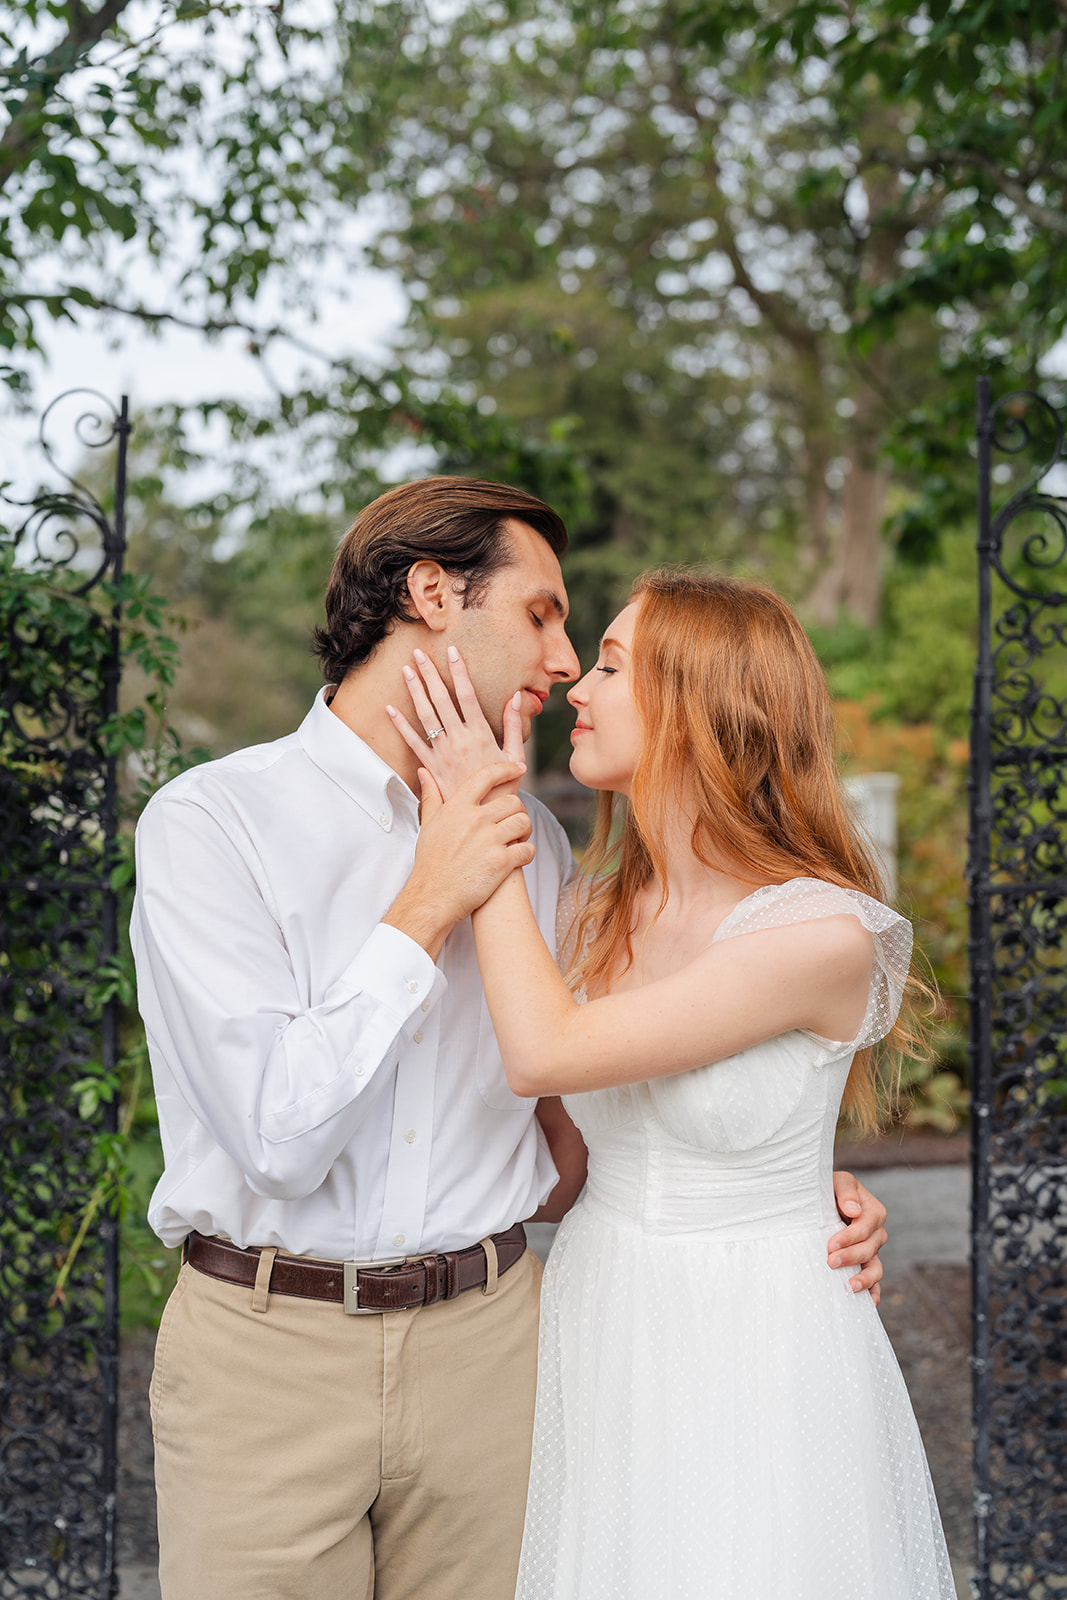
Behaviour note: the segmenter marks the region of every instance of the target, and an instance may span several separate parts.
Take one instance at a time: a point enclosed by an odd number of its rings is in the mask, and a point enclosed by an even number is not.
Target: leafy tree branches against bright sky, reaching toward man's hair
[[[272,378],[270,347],[291,338],[294,312],[314,314],[325,258],[344,259],[347,224],[384,189],[392,107],[419,70],[405,42],[421,21],[378,0],[336,0],[325,14],[299,0],[285,11],[262,0],[0,0],[0,376],[26,394],[27,355],[58,318],[243,330],[272,398],[219,395],[155,419],[171,477],[190,464],[190,419],[229,427],[234,486],[206,515],[230,550],[248,546],[230,573],[258,560],[283,570],[283,544],[306,546],[298,565],[318,560],[323,520],[341,531],[378,493],[376,466],[398,442],[461,470],[493,461],[565,504],[581,496],[560,440],[483,418],[440,382],[370,371],[338,354],[334,330],[306,346],[290,386]],[[152,304],[133,288],[146,259],[160,272]],[[254,470],[266,442],[272,472]],[[277,482],[275,442],[299,462],[299,493]],[[149,509],[174,518],[173,506]],[[203,515],[187,507],[171,552]],[[224,565],[192,563],[213,581]],[[190,656],[219,614],[205,595],[197,608]]]

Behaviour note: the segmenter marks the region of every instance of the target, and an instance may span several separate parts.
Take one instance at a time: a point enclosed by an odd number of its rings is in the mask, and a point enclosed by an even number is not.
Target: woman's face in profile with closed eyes
[[[630,651],[637,603],[619,611],[600,642],[592,672],[568,691],[577,712],[571,733],[571,771],[587,789],[629,795],[645,731],[630,688]]]

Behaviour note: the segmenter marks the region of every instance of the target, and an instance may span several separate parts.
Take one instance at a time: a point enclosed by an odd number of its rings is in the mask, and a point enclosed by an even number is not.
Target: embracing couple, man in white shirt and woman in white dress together
[[[953,1594],[885,1210],[830,1171],[910,928],[817,662],[769,590],[654,573],[579,678],[565,547],[502,485],[381,496],[301,728],[141,821],[163,1600]],[[557,683],[577,880],[518,792]]]

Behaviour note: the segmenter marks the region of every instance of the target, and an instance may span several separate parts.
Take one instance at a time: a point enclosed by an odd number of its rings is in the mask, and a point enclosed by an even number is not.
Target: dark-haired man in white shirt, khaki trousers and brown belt
[[[577,675],[565,547],[502,485],[381,496],[330,579],[336,688],[290,738],[168,784],[138,829],[150,1221],[187,1254],[152,1382],[163,1600],[512,1594],[539,1278],[517,1224],[569,1205],[582,1150],[558,1102],[537,1122],[512,1094],[478,984],[467,917],[512,862],[459,846],[442,888],[386,704],[413,712],[414,648],[448,680],[456,645],[498,736],[517,690],[528,731]],[[561,829],[493,803],[523,861],[531,830],[552,941]],[[837,1243],[870,1285],[885,1211],[864,1202]]]

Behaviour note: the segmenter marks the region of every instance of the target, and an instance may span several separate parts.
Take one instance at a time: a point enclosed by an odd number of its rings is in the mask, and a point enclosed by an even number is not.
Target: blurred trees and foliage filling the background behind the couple
[[[136,419],[130,560],[189,622],[184,742],[296,725],[334,544],[397,477],[558,506],[585,659],[651,563],[769,581],[827,667],[845,771],[901,778],[901,894],[942,994],[909,1117],[953,1128],[974,379],[1064,370],[1065,43],[1062,0],[0,0],[16,400],[42,326],[104,310],[243,330],[267,370],[368,202],[368,258],[408,296],[376,368],[326,328],[269,403]],[[173,302],[131,293],[128,242],[181,243]],[[208,466],[227,488],[198,499]],[[550,795],[568,726],[560,702],[537,728]]]

